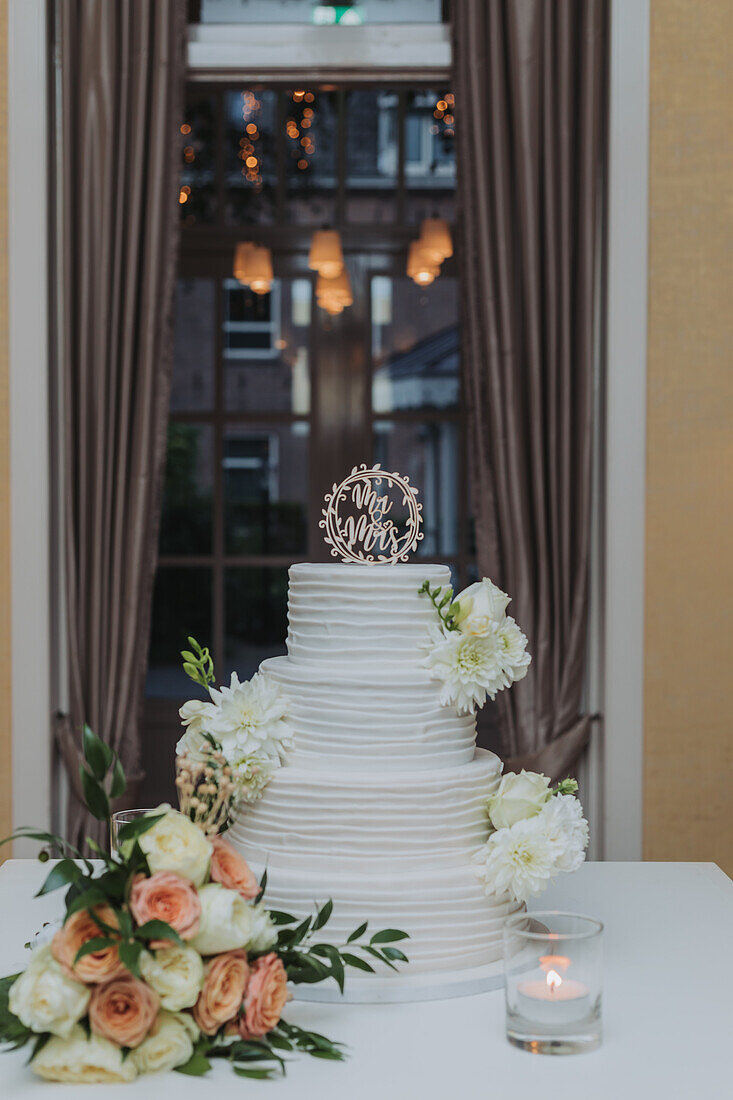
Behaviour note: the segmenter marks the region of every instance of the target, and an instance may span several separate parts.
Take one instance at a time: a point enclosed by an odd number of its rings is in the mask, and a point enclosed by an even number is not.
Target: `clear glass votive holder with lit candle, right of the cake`
[[[504,924],[506,1037],[533,1054],[580,1054],[601,1043],[603,925],[550,910]]]

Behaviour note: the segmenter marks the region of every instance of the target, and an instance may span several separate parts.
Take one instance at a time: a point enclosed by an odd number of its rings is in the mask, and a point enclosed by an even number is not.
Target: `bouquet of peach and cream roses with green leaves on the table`
[[[87,809],[108,821],[122,767],[88,727],[83,752]],[[0,1042],[30,1044],[31,1068],[46,1080],[203,1075],[214,1058],[266,1078],[294,1050],[339,1060],[338,1043],[283,1019],[288,986],[330,978],[342,991],[347,967],[407,961],[394,946],[407,936],[395,928],[368,936],[363,923],[346,944],[322,942],[330,901],[302,920],[267,910],[266,871],[258,882],[222,836],[167,805],[123,825],[111,856],[88,840],[96,864],[53,834],[14,836],[65,856],[39,891],[66,888],[62,926],[21,974],[0,980]]]

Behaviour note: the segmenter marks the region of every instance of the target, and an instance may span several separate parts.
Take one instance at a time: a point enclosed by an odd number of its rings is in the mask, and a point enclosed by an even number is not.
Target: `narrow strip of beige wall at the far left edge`
[[[0,0],[0,838],[12,827],[10,440],[8,409],[8,11]],[[0,860],[8,855],[0,848]]]

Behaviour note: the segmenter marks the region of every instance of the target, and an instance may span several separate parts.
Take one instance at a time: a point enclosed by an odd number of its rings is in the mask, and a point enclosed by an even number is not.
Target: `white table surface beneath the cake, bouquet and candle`
[[[32,900],[44,867],[0,867],[0,974],[61,912],[63,894]],[[547,1057],[504,1038],[504,998],[418,1004],[293,1004],[288,1016],[340,1040],[344,1064],[296,1056],[287,1077],[243,1081],[229,1067],[109,1086],[47,1085],[25,1052],[0,1059],[0,1097],[185,1100],[723,1100],[733,1097],[733,882],[713,864],[587,864],[541,899],[605,922],[604,1041],[592,1054]]]

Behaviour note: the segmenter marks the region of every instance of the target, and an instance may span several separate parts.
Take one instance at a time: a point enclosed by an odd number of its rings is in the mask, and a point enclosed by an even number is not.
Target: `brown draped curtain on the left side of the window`
[[[67,835],[83,723],[140,762],[165,460],[177,250],[185,0],[61,0],[57,221],[63,273]]]

